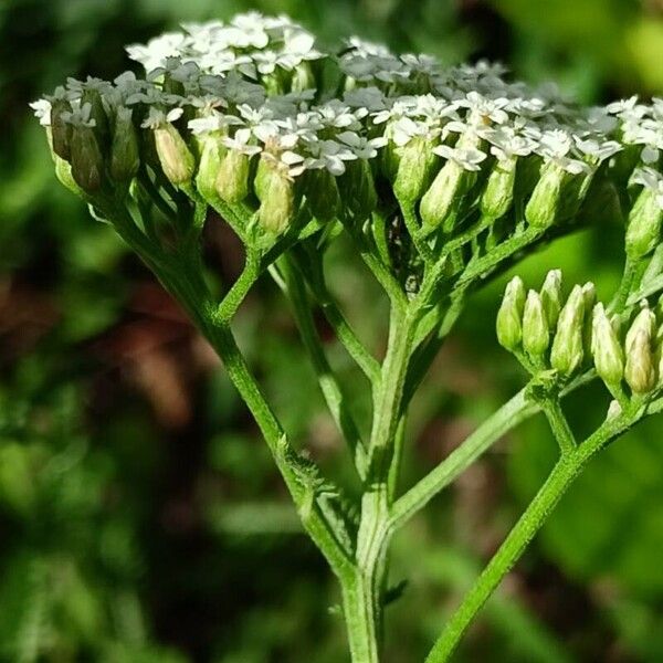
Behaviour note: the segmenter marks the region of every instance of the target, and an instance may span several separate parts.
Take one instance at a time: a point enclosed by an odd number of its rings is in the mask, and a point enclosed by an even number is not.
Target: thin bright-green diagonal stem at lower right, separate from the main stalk
[[[633,420],[633,412],[629,412],[604,423],[581,445],[560,457],[546,483],[529,503],[520,519],[448,622],[442,635],[429,653],[427,663],[444,663],[450,660],[477,612],[520,558],[587,462],[611,440],[630,428]]]

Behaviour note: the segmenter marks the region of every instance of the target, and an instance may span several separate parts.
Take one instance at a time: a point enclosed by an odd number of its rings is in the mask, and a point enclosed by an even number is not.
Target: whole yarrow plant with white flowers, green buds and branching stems
[[[663,288],[663,101],[582,108],[554,88],[508,82],[497,65],[443,69],[358,39],[324,53],[299,25],[259,14],[185,25],[127,50],[144,76],[69,80],[33,104],[55,172],[223,360],[340,583],[355,662],[380,659],[392,534],[505,432],[546,414],[559,461],[434,643],[428,661],[446,661],[583,466],[663,408],[663,316],[653,301]],[[201,257],[210,210],[245,248],[243,273],[222,295]],[[497,337],[529,383],[401,490],[409,406],[470,295],[541,244],[609,220],[625,228],[613,298],[596,302],[592,284],[565,291],[555,270],[539,291],[515,277]],[[327,286],[325,254],[340,234],[390,302],[379,359]],[[293,448],[235,344],[233,316],[264,273],[290,298],[360,499]],[[325,355],[317,308],[371,390],[366,439]],[[561,402],[589,380],[613,400],[578,440]]]

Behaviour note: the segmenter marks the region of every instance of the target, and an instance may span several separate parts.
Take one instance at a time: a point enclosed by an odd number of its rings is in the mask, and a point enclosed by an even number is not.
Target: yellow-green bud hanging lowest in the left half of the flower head
[[[255,177],[255,193],[261,202],[257,221],[262,228],[281,234],[292,222],[295,194],[287,173],[262,158]]]

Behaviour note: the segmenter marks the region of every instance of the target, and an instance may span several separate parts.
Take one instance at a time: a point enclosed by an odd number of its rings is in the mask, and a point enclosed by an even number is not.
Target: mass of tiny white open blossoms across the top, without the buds
[[[187,24],[127,51],[145,66],[144,78],[70,78],[33,104],[40,122],[51,124],[57,107],[64,123],[98,123],[103,110],[113,124],[119,109],[131,108],[137,128],[170,124],[187,141],[211,136],[230,150],[261,155],[290,178],[319,169],[339,176],[349,161],[385,149],[398,157],[414,138],[440,166],[466,171],[530,158],[591,176],[636,150],[630,183],[655,189],[663,206],[662,99],[580,108],[551,86],[507,81],[497,64],[445,69],[434,57],[396,55],[355,38],[340,54],[325,54],[302,27],[259,13]],[[336,67],[333,83],[323,67]]]

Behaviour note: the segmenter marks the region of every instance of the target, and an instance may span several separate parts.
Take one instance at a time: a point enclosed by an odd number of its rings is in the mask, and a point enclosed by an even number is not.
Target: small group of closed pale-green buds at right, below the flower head
[[[561,273],[548,273],[540,291],[526,293],[516,276],[497,313],[497,338],[533,372],[555,371],[560,383],[596,369],[612,393],[646,396],[663,387],[663,325],[643,302],[629,324],[596,303],[591,283],[566,299]]]

